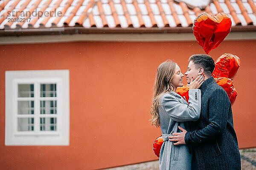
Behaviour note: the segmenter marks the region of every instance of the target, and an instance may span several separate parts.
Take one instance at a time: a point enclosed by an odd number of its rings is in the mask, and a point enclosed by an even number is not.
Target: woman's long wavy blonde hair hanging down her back
[[[162,62],[157,68],[156,79],[154,82],[154,92],[153,92],[153,104],[151,106],[151,125],[160,127],[160,120],[158,114],[159,99],[163,94],[168,93],[174,89],[171,81],[174,77],[174,72],[176,68],[176,63],[168,59]]]

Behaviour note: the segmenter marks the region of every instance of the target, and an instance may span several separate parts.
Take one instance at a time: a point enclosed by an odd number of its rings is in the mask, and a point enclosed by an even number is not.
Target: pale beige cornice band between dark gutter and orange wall
[[[224,41],[256,40],[256,31],[231,32]],[[59,42],[178,42],[196,39],[192,33],[163,34],[55,34],[0,37],[1,45],[37,44]]]

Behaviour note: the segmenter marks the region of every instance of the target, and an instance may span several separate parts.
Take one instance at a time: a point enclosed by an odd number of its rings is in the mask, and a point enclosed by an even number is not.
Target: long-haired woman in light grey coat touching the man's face
[[[161,63],[157,68],[154,82],[154,98],[151,106],[151,125],[160,127],[163,145],[160,150],[160,170],[191,170],[192,153],[187,145],[174,145],[168,136],[180,132],[179,127],[189,131],[189,122],[199,119],[201,111],[201,91],[198,89],[204,76],[192,79],[189,85],[189,104],[179,94],[182,87],[180,67],[171,60]]]

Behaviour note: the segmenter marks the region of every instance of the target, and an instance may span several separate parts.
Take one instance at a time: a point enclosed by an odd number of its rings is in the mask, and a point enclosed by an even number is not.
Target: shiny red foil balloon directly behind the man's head
[[[215,69],[212,72],[213,77],[227,77],[234,79],[239,71],[240,58],[236,55],[225,53],[215,61]]]

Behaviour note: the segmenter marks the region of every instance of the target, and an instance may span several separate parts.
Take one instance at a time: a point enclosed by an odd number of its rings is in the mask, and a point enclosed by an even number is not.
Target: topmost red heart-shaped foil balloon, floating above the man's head
[[[201,14],[193,24],[193,33],[198,44],[208,54],[217,48],[231,31],[231,18],[225,13]]]

